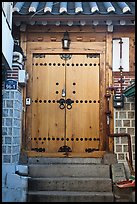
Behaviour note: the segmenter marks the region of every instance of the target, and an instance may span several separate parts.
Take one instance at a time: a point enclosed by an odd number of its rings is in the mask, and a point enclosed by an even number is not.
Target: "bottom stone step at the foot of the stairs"
[[[112,192],[30,191],[27,202],[114,202],[114,198]]]

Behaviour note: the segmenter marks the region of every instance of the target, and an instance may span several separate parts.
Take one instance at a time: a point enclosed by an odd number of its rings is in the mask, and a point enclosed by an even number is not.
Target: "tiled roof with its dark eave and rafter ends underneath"
[[[135,2],[14,2],[13,22],[54,25],[135,25]]]

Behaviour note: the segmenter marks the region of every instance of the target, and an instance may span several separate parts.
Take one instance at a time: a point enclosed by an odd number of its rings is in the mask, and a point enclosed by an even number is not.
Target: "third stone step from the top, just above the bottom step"
[[[109,178],[29,178],[28,187],[30,191],[112,192]]]

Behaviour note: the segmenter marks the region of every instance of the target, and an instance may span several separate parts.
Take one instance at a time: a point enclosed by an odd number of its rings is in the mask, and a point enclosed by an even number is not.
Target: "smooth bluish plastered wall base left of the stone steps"
[[[23,176],[16,174],[16,171]],[[27,166],[2,164],[2,202],[27,202],[27,174]]]

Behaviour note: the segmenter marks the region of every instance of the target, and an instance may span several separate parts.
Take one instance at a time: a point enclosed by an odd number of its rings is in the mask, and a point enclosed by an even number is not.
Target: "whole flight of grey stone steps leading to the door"
[[[27,202],[114,202],[101,158],[29,158]]]

